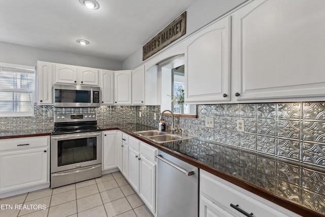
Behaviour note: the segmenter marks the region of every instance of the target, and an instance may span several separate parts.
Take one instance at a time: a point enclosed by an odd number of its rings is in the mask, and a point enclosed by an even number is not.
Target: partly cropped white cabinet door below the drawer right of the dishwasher
[[[200,217],[233,217],[234,215],[221,209],[208,198],[200,197]]]

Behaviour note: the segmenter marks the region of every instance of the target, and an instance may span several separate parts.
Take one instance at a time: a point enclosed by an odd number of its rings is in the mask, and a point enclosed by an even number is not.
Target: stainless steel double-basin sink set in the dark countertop
[[[161,132],[158,130],[138,131],[134,133],[139,136],[145,137],[151,141],[154,141],[156,143],[174,142],[174,141],[187,140],[192,138],[188,136],[179,136],[175,134]]]

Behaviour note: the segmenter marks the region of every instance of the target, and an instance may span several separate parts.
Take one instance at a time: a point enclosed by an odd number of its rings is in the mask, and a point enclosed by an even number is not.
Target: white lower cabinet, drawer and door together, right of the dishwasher
[[[234,208],[235,207],[235,208]],[[235,184],[200,170],[200,217],[245,216],[299,216]]]

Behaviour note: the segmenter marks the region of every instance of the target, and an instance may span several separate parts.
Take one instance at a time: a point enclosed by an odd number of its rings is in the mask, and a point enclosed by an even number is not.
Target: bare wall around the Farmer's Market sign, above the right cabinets
[[[247,0],[198,0],[194,2],[186,9],[186,35],[179,40],[191,35],[199,28],[212,22],[246,1]],[[169,23],[166,23],[166,25],[168,24]],[[154,36],[146,36],[147,41],[153,37]],[[176,42],[179,40],[176,40]],[[170,44],[166,48],[172,46],[176,42]],[[165,49],[160,50],[158,53],[161,53]],[[142,47],[139,47],[139,49],[137,49],[131,56],[127,57],[123,61],[123,69],[134,69],[142,63]]]

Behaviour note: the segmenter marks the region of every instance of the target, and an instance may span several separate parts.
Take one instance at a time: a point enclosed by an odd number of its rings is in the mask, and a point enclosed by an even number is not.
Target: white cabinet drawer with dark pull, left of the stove
[[[1,139],[0,151],[47,146],[48,141],[48,136]]]

